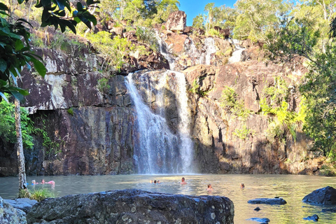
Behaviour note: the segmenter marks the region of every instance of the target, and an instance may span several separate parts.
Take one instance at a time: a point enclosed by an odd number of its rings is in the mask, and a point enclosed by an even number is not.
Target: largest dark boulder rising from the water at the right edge
[[[336,189],[330,186],[325,188],[320,188],[314,190],[309,195],[306,195],[303,199],[303,202],[313,203],[313,204],[336,204]]]

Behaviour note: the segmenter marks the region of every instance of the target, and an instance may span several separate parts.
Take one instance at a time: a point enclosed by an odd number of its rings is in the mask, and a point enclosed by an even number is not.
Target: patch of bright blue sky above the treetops
[[[187,14],[187,26],[193,25],[193,18],[200,13],[204,13],[204,6],[207,3],[215,3],[215,6],[229,6],[233,7],[233,4],[237,0],[179,0],[180,10],[183,10]]]

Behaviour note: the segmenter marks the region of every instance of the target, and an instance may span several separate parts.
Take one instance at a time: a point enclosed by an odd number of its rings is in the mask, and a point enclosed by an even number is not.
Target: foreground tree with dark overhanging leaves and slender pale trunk
[[[28,2],[29,0],[25,0]],[[32,1],[32,0],[31,0]],[[24,0],[18,0],[23,3]],[[66,27],[76,34],[76,25],[78,22],[84,22],[87,27],[91,28],[92,24],[96,25],[97,20],[94,15],[88,11],[90,7],[99,1],[87,0],[86,6],[78,2],[76,10],[70,6],[69,0],[41,0],[37,1],[35,7],[42,8],[41,27],[53,25],[55,29],[60,27],[64,32]],[[9,16],[9,8],[0,3],[0,14]],[[72,13],[71,13],[72,11]],[[71,16],[70,16],[71,15]],[[25,157],[23,155],[22,133],[20,124],[20,103],[19,100],[27,95],[27,90],[22,90],[16,83],[16,78],[20,77],[20,72],[24,66],[31,68],[31,63],[36,71],[44,76],[46,73],[45,66],[41,62],[41,57],[32,52],[29,45],[29,29],[25,25],[30,25],[27,20],[18,19],[15,23],[10,23],[5,18],[0,18],[0,101],[6,98],[5,92],[15,97],[15,127],[18,139],[18,164],[19,164],[19,190],[26,190],[25,178]],[[31,26],[32,28],[32,26]]]

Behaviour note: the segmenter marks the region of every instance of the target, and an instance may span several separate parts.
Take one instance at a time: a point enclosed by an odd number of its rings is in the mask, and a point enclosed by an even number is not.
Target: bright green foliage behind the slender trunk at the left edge
[[[8,95],[6,97],[8,97]],[[16,143],[14,107],[14,104],[10,104],[6,101],[0,102],[0,138],[4,142],[10,142],[12,144]],[[25,109],[21,108],[20,111],[23,147],[31,148],[34,144],[30,135],[30,118]]]

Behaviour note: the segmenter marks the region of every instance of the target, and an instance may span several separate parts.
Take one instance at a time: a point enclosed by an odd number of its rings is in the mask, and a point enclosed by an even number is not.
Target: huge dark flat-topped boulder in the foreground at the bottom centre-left
[[[228,197],[112,190],[43,200],[27,223],[233,223]]]

